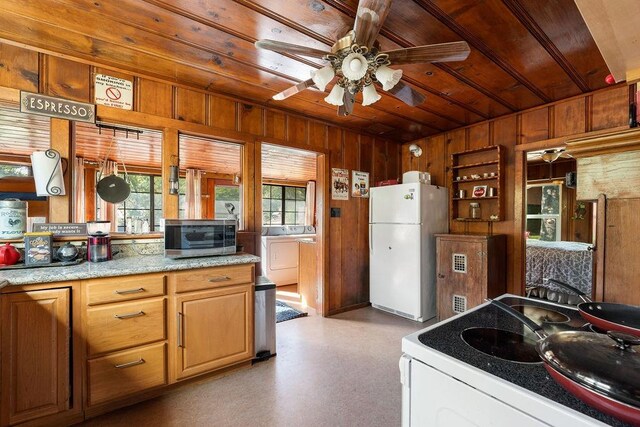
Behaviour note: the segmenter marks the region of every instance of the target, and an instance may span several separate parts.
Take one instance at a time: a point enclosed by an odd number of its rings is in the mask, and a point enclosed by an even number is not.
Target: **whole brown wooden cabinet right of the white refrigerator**
[[[506,290],[506,236],[436,234],[438,320]]]

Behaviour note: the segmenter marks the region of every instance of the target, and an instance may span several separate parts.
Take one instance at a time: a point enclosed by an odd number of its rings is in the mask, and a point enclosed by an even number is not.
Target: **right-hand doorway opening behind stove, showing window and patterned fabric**
[[[580,298],[553,280],[592,295],[595,202],[577,200],[577,162],[562,147],[527,151],[525,158],[525,290],[529,296],[577,304]]]

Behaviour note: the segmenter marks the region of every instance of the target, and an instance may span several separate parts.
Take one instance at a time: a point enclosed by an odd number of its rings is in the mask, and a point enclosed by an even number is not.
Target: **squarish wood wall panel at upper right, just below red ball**
[[[609,129],[629,124],[629,87],[621,85],[594,92],[591,97],[591,129]]]

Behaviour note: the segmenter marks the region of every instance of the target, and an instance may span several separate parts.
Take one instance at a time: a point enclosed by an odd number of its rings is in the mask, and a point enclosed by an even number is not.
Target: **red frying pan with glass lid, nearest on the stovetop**
[[[537,336],[536,351],[544,367],[569,393],[586,404],[640,426],[640,338],[621,332],[605,334],[562,331],[548,335],[540,325],[508,305],[493,300]]]

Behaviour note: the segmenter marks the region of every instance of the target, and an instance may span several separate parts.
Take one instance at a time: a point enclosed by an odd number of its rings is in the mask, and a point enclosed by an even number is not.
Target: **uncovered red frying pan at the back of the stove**
[[[578,304],[578,311],[593,326],[605,331],[620,331],[640,337],[640,307],[612,302],[594,302],[580,289],[549,279],[561,288],[577,294],[584,302]]]

